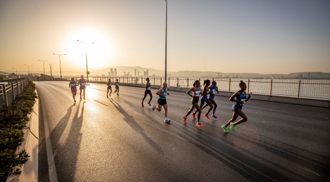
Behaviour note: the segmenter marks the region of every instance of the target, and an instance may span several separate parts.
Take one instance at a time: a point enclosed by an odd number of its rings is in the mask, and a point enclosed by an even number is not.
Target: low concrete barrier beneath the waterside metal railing
[[[106,84],[107,82],[90,82],[90,83],[101,83]],[[145,84],[132,84],[132,83],[120,83],[122,86],[137,86],[137,87],[145,87]],[[152,85],[152,88],[159,89],[159,85]],[[179,92],[187,92],[189,88],[183,87],[170,87],[169,90],[179,91]],[[229,97],[232,96],[235,92],[223,92],[219,91],[218,96]],[[269,102],[278,102],[278,103],[287,103],[287,104],[297,104],[297,105],[305,105],[305,106],[316,106],[323,108],[330,108],[330,101],[327,100],[317,100],[317,99],[305,99],[305,98],[293,98],[293,97],[283,97],[283,96],[270,96],[270,95],[261,95],[261,94],[252,94],[252,100],[260,100],[260,101],[269,101]]]

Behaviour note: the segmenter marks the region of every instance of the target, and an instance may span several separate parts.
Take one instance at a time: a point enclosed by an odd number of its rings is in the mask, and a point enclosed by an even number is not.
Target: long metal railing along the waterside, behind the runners
[[[146,77],[88,77],[88,81],[106,82],[111,78],[121,83],[145,84]],[[79,80],[75,77],[75,80]],[[149,78],[153,85],[162,85],[164,78]],[[217,82],[219,91],[236,92],[239,90],[239,82],[243,80],[247,84],[247,92],[261,95],[296,97],[307,99],[330,100],[330,80],[298,80],[298,79],[232,79],[232,78],[209,78]],[[54,78],[60,80],[60,78]],[[64,77],[62,80],[70,81],[71,77]],[[201,78],[168,78],[169,86],[192,87],[195,80]],[[203,84],[203,80],[201,82]]]

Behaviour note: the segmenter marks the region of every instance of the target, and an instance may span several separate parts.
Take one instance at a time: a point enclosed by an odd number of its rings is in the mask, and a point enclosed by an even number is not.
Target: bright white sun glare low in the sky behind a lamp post
[[[103,69],[111,65],[114,51],[108,35],[94,29],[79,29],[72,31],[66,41],[68,66],[74,66],[74,70],[86,69],[86,52],[88,70]]]

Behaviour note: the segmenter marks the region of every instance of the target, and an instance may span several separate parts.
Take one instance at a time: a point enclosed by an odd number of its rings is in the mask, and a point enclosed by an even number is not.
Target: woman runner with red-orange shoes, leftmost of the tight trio
[[[187,91],[187,94],[192,97],[191,99],[191,108],[189,109],[189,111],[187,112],[187,114],[185,116],[183,116],[183,120],[186,123],[187,122],[187,117],[188,115],[194,110],[196,109],[198,111],[198,119],[197,119],[197,126],[199,127],[203,127],[202,124],[200,123],[200,118],[201,118],[201,114],[202,114],[202,110],[200,108],[200,106],[198,105],[198,101],[200,99],[201,96],[201,88],[200,88],[200,84],[201,82],[199,80],[196,80],[193,83],[193,87],[190,88]],[[192,95],[190,94],[190,92],[192,92]]]

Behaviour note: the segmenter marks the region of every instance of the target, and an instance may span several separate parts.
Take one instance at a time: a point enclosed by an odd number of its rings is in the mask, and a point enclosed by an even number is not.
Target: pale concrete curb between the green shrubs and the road
[[[35,90],[35,93],[38,95],[37,90]],[[24,142],[16,151],[25,149],[30,158],[22,167],[18,167],[22,173],[9,178],[7,182],[38,181],[39,99],[36,99],[33,111],[27,117],[29,121],[26,123],[26,127],[23,128]]]

